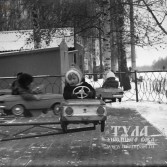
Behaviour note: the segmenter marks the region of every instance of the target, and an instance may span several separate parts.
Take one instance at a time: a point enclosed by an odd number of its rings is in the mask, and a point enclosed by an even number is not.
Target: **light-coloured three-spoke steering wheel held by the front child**
[[[73,94],[77,95],[79,99],[84,99],[88,96],[88,93],[90,92],[90,89],[87,86],[77,86],[73,90]]]

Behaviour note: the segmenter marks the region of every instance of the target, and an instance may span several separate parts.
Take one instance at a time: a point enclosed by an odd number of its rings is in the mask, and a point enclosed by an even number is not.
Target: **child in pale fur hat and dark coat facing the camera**
[[[65,74],[66,86],[64,87],[63,97],[64,99],[79,99],[79,95],[73,93],[73,90],[78,86],[86,86],[90,91],[84,89],[85,93],[88,94],[86,98],[95,98],[95,89],[85,82],[83,74],[79,68],[73,65]]]

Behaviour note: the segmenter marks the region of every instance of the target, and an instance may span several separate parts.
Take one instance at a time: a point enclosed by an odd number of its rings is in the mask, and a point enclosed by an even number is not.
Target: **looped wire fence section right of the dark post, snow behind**
[[[167,102],[167,71],[138,71],[135,74],[136,100]]]

